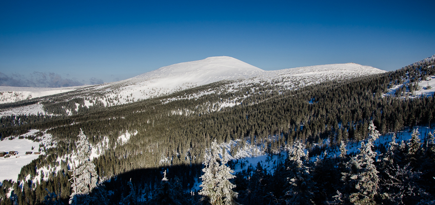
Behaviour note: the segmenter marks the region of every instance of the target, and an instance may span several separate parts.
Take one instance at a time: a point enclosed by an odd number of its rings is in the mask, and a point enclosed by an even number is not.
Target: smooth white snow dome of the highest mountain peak
[[[117,88],[117,92],[112,92],[107,97],[120,97],[119,103],[125,104],[128,102],[127,96],[134,101],[148,99],[221,80],[247,79],[264,72],[232,57],[208,57],[162,67],[99,88]]]

